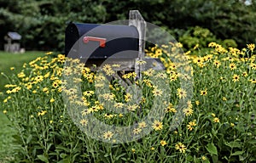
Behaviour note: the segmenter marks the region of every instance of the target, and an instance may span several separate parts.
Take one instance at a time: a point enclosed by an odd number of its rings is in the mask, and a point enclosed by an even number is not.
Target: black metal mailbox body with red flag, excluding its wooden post
[[[79,59],[135,59],[138,43],[139,34],[134,26],[70,23],[66,29],[65,53],[74,50]],[[121,53],[125,51],[131,52]]]

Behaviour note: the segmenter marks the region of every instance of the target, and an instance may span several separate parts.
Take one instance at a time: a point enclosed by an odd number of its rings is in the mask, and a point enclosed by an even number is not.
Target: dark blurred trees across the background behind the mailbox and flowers
[[[138,9],[148,22],[169,29],[207,28],[220,39],[234,39],[241,47],[256,37],[256,2],[238,0],[0,0],[0,45],[7,31],[18,31],[27,49],[53,49],[61,52],[69,21],[106,23],[128,19],[130,9]],[[183,30],[175,30],[176,38]],[[3,48],[3,47],[2,47]]]

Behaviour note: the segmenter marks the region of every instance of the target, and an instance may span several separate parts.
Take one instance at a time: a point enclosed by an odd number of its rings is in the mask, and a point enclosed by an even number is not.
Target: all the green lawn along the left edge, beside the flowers
[[[6,53],[0,51],[0,72],[3,72],[6,76],[11,76],[13,73],[19,72],[24,63],[39,56],[44,56],[44,52]],[[15,70],[10,70],[10,67],[15,67]],[[4,85],[7,83],[9,81],[0,75],[0,93],[5,91]],[[0,94],[0,163],[13,160],[12,154],[15,148],[12,144],[12,135],[15,130],[12,129],[10,121],[3,114],[2,103],[3,96]]]

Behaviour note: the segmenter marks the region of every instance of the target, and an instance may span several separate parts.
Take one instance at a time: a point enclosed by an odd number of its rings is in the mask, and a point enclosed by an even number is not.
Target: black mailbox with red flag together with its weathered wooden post
[[[107,59],[108,64],[120,65],[119,71],[135,71],[140,77],[144,65],[138,60],[146,60],[147,67],[155,70],[164,69],[159,59],[144,57],[145,38],[146,22],[137,10],[131,10],[129,25],[70,23],[65,33],[65,54],[93,70]]]

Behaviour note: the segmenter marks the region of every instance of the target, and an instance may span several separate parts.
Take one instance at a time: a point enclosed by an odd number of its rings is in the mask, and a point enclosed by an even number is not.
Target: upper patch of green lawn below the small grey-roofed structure
[[[24,63],[43,55],[44,52],[6,53],[0,51],[0,72],[3,72],[6,76],[10,76],[13,73],[19,72]],[[10,67],[15,67],[15,70],[10,70]],[[5,77],[0,76],[0,92],[5,90],[4,85],[7,83],[8,81]]]

